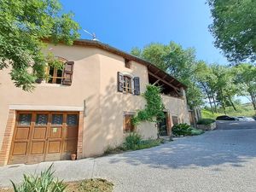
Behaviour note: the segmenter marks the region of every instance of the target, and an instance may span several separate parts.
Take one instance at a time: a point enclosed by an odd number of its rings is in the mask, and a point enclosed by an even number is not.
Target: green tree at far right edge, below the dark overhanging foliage
[[[241,96],[249,96],[256,110],[256,67],[249,63],[236,66],[236,84],[241,85]]]

